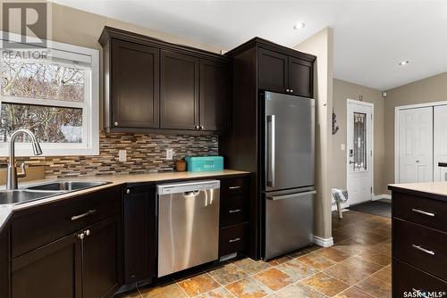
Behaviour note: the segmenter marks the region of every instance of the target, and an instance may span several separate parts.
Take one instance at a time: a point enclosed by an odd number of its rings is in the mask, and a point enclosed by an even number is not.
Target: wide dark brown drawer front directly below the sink
[[[121,187],[111,187],[80,195],[63,205],[48,205],[44,210],[13,219],[12,256],[48,244],[121,210]]]

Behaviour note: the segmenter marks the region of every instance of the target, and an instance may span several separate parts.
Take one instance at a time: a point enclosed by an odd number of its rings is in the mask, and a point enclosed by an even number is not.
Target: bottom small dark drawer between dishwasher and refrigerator
[[[233,252],[245,251],[248,224],[221,228],[219,236],[219,257]]]

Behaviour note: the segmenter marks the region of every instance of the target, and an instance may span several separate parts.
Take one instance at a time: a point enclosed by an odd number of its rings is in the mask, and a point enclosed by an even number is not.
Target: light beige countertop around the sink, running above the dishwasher
[[[71,193],[65,193],[62,195],[54,195],[45,199],[31,201],[29,203],[21,203],[13,206],[4,206],[4,207],[0,206],[0,231],[4,227],[4,224],[7,222],[7,220],[11,217],[13,211],[28,209],[46,203],[54,203],[56,201],[72,198],[74,196],[86,195],[111,186],[119,186],[128,183],[136,184],[136,183],[164,182],[172,180],[188,180],[197,178],[216,178],[222,176],[243,175],[248,173],[249,172],[240,170],[220,170],[220,171],[208,171],[208,172],[173,171],[173,172],[157,172],[148,174],[115,174],[115,175],[77,176],[67,178],[45,178],[22,183],[19,182],[19,188],[34,186],[52,181],[105,181],[110,183],[104,186],[91,187],[88,189],[74,191]],[[4,189],[4,186],[0,186],[0,189]]]

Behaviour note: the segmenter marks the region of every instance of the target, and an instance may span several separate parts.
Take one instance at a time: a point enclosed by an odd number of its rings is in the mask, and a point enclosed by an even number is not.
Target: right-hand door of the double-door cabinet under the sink
[[[117,216],[84,230],[83,298],[107,297],[121,284],[121,242]]]

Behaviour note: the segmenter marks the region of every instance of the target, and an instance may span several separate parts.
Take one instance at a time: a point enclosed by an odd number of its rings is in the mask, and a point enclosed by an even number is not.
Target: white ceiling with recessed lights
[[[256,36],[295,46],[330,26],[334,77],[378,90],[447,71],[447,1],[443,0],[53,1],[224,50]],[[298,21],[306,22],[306,27],[292,29]],[[410,63],[401,67],[402,60]]]

